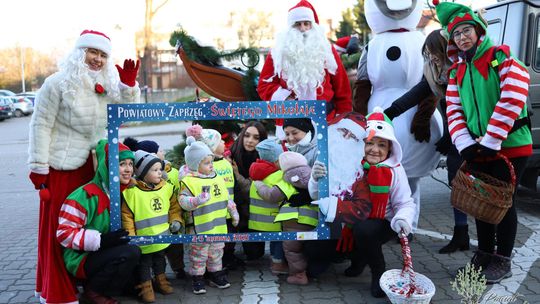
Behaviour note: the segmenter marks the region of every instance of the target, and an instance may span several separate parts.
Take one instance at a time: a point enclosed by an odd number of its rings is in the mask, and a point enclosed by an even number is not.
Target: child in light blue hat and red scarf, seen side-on
[[[281,223],[275,223],[275,217],[279,213],[279,206],[284,199],[289,199],[296,193],[293,185],[283,180],[283,171],[279,169],[278,158],[283,153],[283,148],[273,139],[265,139],[255,146],[259,152],[259,159],[249,168],[249,177],[254,181],[249,191],[249,222],[251,231],[279,232]],[[268,187],[278,187],[278,195],[261,196],[256,183],[265,184]],[[272,256],[271,271],[273,274],[287,274],[289,269],[284,261],[283,243],[281,241],[270,242],[270,255]]]

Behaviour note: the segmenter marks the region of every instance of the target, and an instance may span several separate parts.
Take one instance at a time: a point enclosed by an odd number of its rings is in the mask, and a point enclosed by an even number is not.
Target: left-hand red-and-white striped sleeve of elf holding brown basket
[[[475,144],[467,129],[467,122],[463,115],[463,107],[455,76],[451,76],[448,79],[448,87],[446,89],[446,117],[448,117],[448,131],[452,137],[452,143],[456,145],[459,152]]]

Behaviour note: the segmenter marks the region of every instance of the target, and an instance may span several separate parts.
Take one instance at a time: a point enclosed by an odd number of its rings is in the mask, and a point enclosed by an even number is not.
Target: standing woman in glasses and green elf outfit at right
[[[446,115],[452,142],[471,170],[509,181],[512,163],[519,181],[532,154],[527,96],[529,73],[506,45],[495,46],[487,24],[470,7],[441,2],[437,17],[448,34]],[[478,251],[471,260],[488,284],[512,276],[512,251],[517,232],[514,204],[497,225],[476,219]]]

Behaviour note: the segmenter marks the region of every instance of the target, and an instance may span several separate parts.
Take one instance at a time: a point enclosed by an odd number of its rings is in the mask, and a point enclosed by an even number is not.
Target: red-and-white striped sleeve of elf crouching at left
[[[77,201],[66,200],[58,215],[56,238],[66,248],[83,251],[99,249],[101,234],[97,230],[84,228],[87,210]]]

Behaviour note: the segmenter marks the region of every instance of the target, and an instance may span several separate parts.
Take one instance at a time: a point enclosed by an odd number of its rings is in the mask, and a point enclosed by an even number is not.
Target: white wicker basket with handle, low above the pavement
[[[384,293],[386,293],[386,295],[388,296],[390,302],[394,304],[430,303],[431,298],[435,295],[435,285],[433,285],[433,282],[423,274],[415,272],[414,275],[416,286],[422,288],[425,291],[424,294],[412,294],[410,297],[406,297],[405,295],[395,293],[391,290],[390,287],[396,282],[403,282],[408,280],[408,278],[406,278],[406,275],[403,275],[401,269],[390,269],[385,271],[379,280],[379,285],[381,286],[381,289],[384,291]]]

